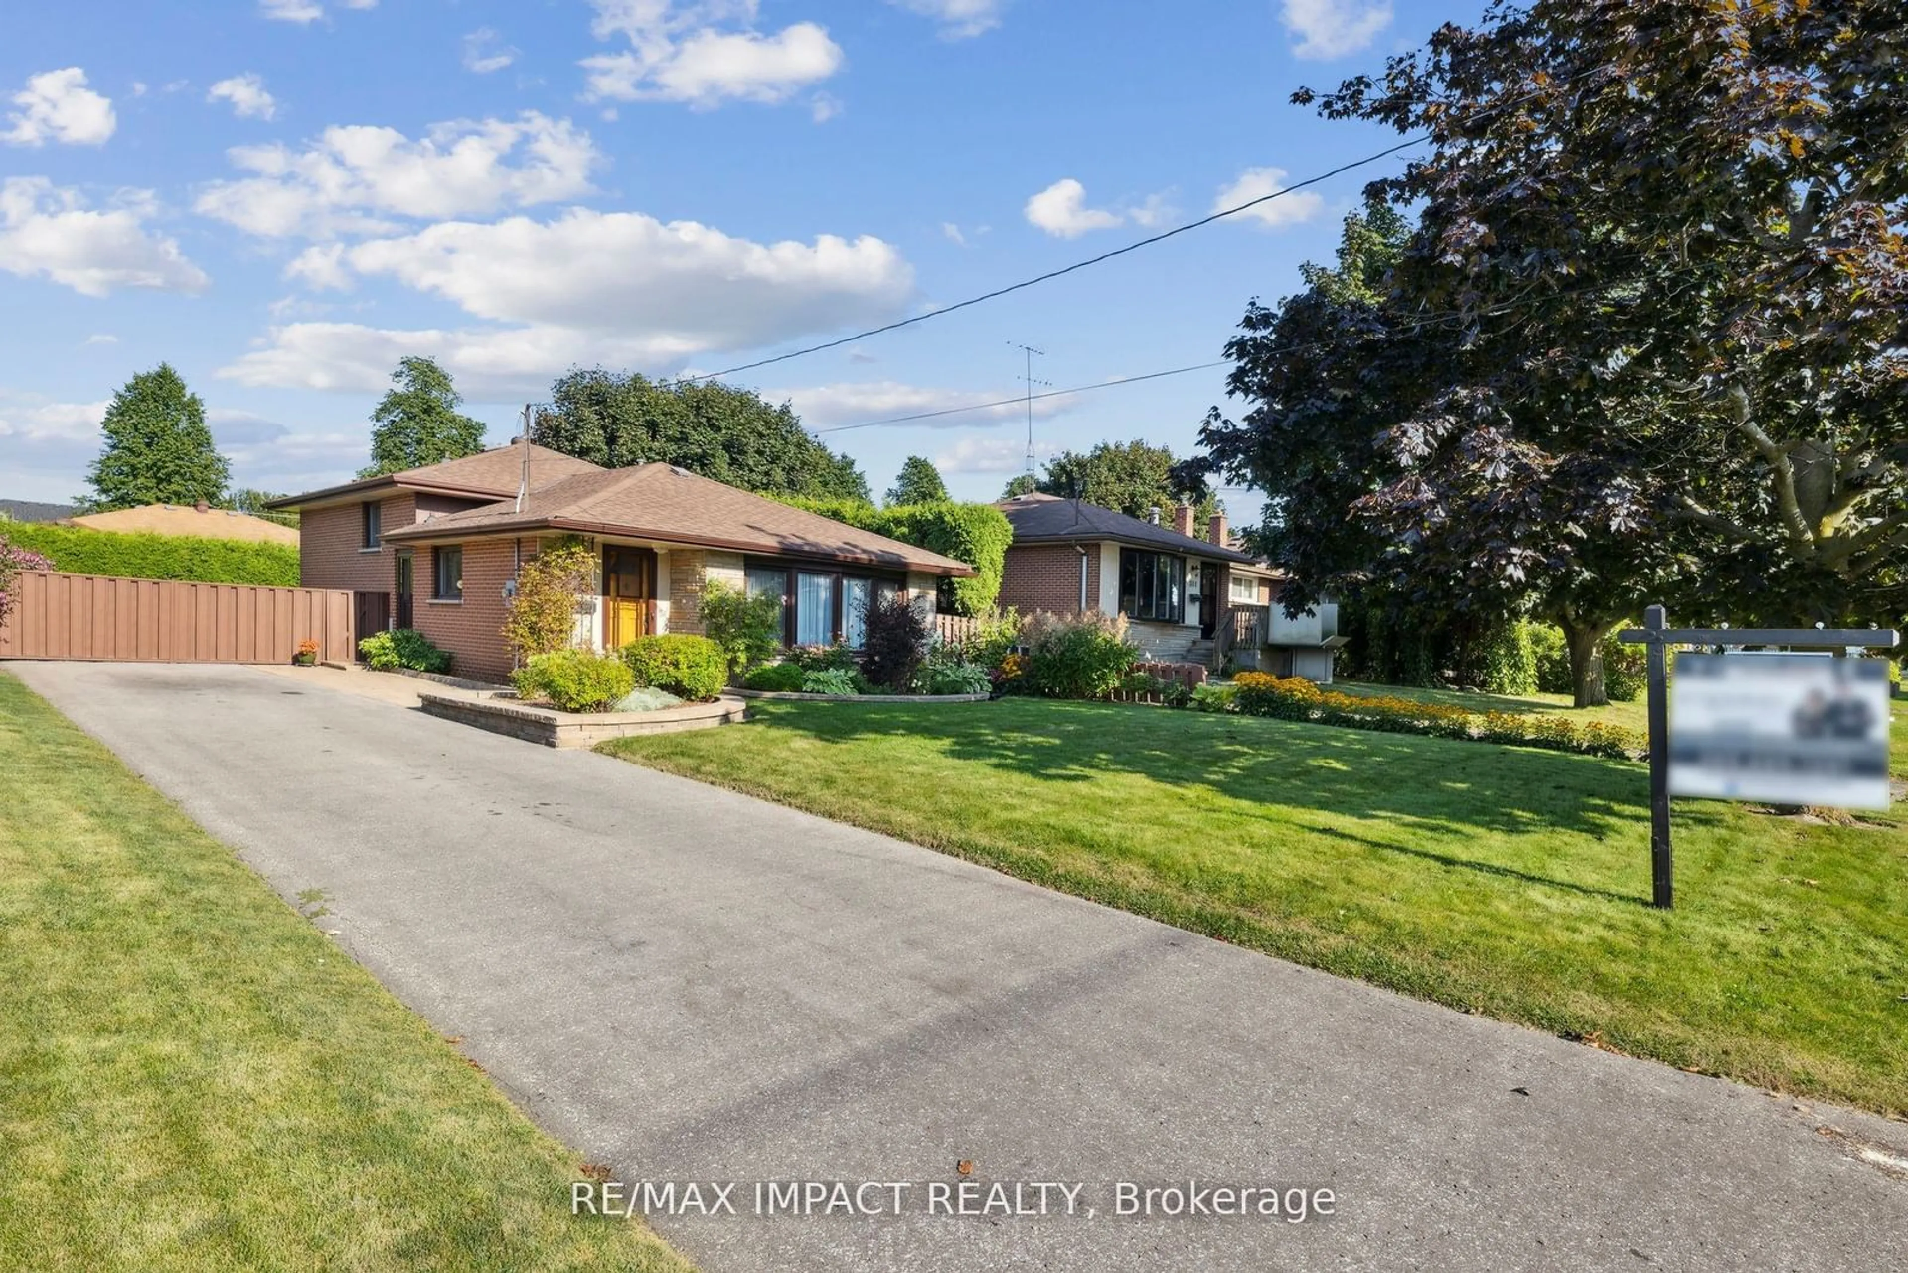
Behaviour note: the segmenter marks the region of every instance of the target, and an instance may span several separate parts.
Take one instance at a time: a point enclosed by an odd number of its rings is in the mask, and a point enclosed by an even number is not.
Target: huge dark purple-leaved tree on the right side
[[[1431,136],[1372,187],[1420,227],[1362,313],[1317,286],[1315,321],[1276,340],[1297,302],[1248,313],[1233,389],[1267,412],[1210,422],[1215,456],[1311,494],[1341,479],[1282,510],[1288,538],[1347,510],[1347,559],[1376,548],[1427,599],[1553,616],[1580,702],[1643,599],[1782,626],[1902,615],[1897,19],[1877,0],[1498,4],[1347,80],[1326,115]],[[1339,412],[1364,412],[1343,447],[1278,456]]]

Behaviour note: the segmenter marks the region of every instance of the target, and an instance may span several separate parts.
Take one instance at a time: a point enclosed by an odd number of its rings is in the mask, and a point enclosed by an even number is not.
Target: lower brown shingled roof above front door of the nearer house
[[[462,540],[490,534],[570,531],[666,544],[693,544],[794,557],[820,557],[895,571],[973,574],[952,557],[820,517],[670,464],[595,470],[530,492],[525,511],[515,494],[485,508],[431,517],[385,531],[393,544]]]

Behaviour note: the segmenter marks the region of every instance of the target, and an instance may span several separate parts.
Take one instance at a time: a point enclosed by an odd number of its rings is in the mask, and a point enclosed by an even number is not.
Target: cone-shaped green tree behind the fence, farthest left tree
[[[206,405],[170,363],[128,380],[105,420],[105,449],[88,470],[92,511],[141,504],[218,504],[231,466],[212,443]]]

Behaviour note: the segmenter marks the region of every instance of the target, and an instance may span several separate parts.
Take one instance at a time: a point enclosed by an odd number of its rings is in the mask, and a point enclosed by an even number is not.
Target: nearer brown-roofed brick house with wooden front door
[[[595,649],[700,634],[710,578],[782,597],[790,645],[855,645],[872,597],[901,594],[931,613],[941,578],[973,574],[952,557],[668,464],[603,470],[523,443],[273,508],[300,511],[301,582],[355,594],[359,636],[416,628],[456,657],[460,674],[487,679],[511,670],[506,595],[550,540],[582,538],[599,553],[601,595],[578,626]]]

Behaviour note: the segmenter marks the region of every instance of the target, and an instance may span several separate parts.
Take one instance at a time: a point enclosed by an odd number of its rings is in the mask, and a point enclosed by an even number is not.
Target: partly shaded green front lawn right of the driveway
[[[603,750],[1408,994],[1908,1113],[1898,811],[1677,802],[1660,912],[1637,763],[1025,699],[752,710]]]

